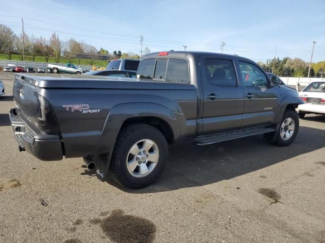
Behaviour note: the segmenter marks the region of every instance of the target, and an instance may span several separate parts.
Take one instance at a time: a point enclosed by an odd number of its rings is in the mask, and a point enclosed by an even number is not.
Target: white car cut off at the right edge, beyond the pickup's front
[[[299,92],[300,98],[305,104],[297,108],[300,118],[305,114],[325,115],[325,82],[313,82]]]

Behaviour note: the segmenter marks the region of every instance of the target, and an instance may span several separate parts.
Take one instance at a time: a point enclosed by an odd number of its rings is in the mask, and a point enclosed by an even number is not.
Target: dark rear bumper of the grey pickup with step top
[[[16,114],[15,109],[9,112],[11,126],[21,150],[28,151],[41,160],[61,160],[63,157],[62,142],[59,136],[35,134]]]

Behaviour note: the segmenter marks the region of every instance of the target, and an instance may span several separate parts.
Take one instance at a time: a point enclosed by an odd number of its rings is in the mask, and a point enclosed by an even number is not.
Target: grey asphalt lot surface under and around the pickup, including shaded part
[[[81,158],[18,152],[13,75],[0,80],[0,242],[325,242],[325,116],[300,119],[289,147],[262,136],[172,146],[153,185],[127,190]]]

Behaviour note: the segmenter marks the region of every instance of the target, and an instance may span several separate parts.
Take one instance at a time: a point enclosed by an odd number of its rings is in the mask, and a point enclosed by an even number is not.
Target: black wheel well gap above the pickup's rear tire
[[[174,133],[167,121],[153,116],[132,117],[124,121],[121,129],[134,123],[143,123],[158,129],[166,138],[168,144],[174,143]]]

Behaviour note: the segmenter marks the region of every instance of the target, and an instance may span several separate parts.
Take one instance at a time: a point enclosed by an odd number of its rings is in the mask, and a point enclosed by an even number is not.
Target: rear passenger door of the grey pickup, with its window
[[[203,104],[203,135],[241,127],[244,93],[232,59],[200,57]]]

